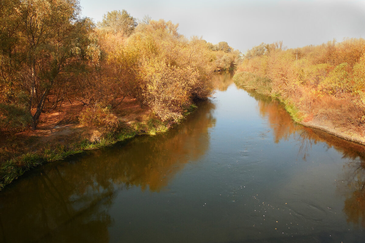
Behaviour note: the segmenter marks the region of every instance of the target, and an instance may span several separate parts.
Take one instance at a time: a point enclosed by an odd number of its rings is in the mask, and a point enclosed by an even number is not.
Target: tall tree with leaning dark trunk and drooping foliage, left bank
[[[27,0],[22,1],[20,11],[20,38],[28,69],[23,85],[29,90],[29,109],[35,106],[32,127],[36,129],[51,90],[65,82],[73,63],[81,58],[92,22],[78,18],[76,0]]]

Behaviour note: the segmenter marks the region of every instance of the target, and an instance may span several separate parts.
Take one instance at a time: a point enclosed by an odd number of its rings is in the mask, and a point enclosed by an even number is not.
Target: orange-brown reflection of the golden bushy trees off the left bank
[[[100,151],[102,160],[108,161],[109,167],[108,174],[102,175],[100,181],[109,178],[113,184],[125,184],[127,187],[135,185],[142,190],[148,188],[153,192],[160,191],[184,164],[196,161],[209,148],[208,129],[215,124],[211,113],[214,104],[207,101],[198,106],[199,113],[169,133],[137,138],[124,145],[118,153],[114,152],[114,148],[107,153]],[[92,164],[88,160],[83,163]]]

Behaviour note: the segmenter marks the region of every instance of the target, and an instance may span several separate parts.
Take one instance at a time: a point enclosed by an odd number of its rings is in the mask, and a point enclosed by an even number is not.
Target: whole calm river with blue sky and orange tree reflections
[[[0,192],[0,242],[364,242],[365,152],[215,75],[180,125]]]

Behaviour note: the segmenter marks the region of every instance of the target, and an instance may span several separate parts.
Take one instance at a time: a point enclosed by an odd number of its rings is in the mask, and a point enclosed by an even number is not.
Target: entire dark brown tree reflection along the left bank
[[[116,191],[158,192],[209,148],[214,104],[198,106],[199,112],[168,133],[43,166],[5,188],[0,241],[109,242],[108,211]]]

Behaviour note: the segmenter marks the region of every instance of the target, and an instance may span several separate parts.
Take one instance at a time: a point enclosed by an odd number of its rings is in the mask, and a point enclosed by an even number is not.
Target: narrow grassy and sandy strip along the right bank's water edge
[[[331,119],[336,115],[345,115],[338,114],[338,110],[328,107],[328,110],[322,109],[321,112],[307,114],[305,111],[300,110],[292,99],[283,98],[280,94],[273,93],[270,80],[267,78],[257,77],[249,72],[239,72],[234,75],[233,80],[239,87],[278,99],[291,115],[293,121],[301,125],[320,129],[339,138],[365,145],[364,136],[354,129],[353,124],[339,124],[339,119]]]

